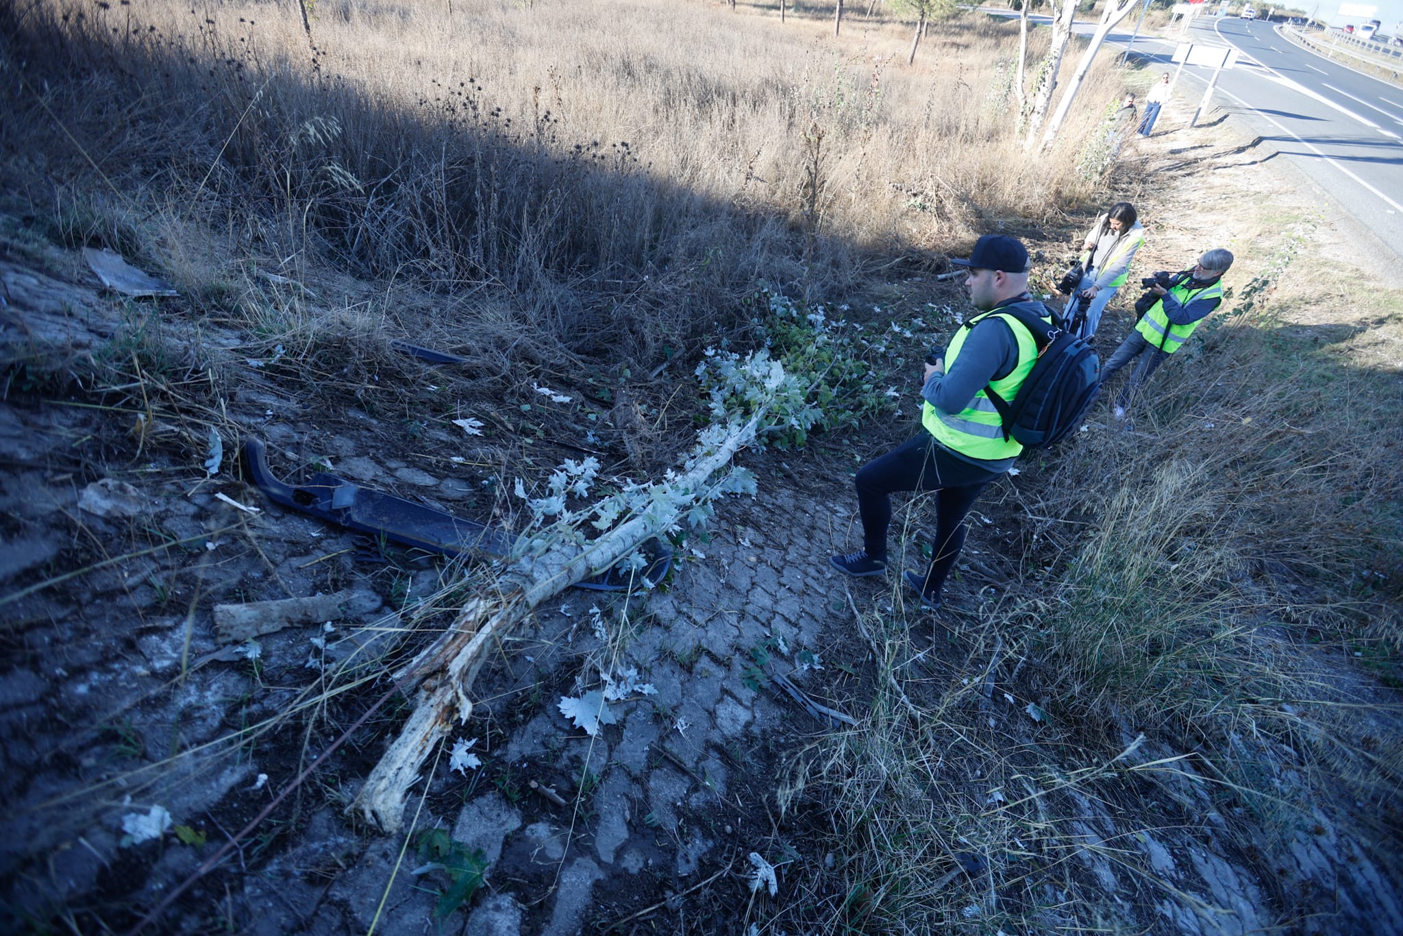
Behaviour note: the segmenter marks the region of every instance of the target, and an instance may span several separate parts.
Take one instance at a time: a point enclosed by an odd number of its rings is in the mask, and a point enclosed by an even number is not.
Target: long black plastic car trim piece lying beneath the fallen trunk
[[[394,494],[362,487],[335,474],[317,472],[306,484],[283,484],[268,467],[268,455],[258,439],[244,441],[244,477],[281,504],[359,533],[384,536],[401,546],[422,549],[439,556],[469,559],[508,559],[518,537],[502,529],[453,516]],[[593,591],[629,591],[643,581],[658,585],[672,567],[672,550],[658,539],[641,547],[648,564],[641,573],[617,567],[577,582]]]

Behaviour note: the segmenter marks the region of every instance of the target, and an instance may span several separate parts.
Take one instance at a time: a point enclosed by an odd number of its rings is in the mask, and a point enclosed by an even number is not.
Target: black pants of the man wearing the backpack
[[[951,455],[922,432],[857,472],[857,512],[863,519],[863,549],[873,559],[887,557],[887,528],[891,526],[894,491],[937,491],[936,542],[925,592],[940,595],[960,550],[964,549],[964,518],[984,487],[998,472],[978,467]]]

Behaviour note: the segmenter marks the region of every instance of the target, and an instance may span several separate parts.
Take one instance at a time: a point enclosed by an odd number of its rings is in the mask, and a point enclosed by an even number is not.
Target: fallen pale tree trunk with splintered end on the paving
[[[533,560],[521,560],[502,574],[494,595],[469,601],[453,626],[396,674],[405,692],[417,688],[414,710],[347,813],[358,811],[386,832],[397,831],[405,796],[418,780],[424,759],[448,737],[455,717],[463,724],[471,716],[467,693],[488,650],[536,605],[612,567],[648,539],[665,533],[693,504],[714,497],[720,481],[713,483],[711,476],[755,438],[762,415],[756,413],[745,424],[734,425],[716,450],[697,457],[685,474],[665,486],[682,497],[654,498],[650,509],[582,547],[561,543]]]

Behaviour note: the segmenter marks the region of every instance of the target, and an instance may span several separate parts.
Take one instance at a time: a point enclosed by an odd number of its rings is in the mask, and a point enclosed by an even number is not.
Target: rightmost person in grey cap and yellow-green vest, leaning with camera
[[[1159,299],[1145,312],[1135,330],[1101,366],[1100,380],[1104,385],[1113,373],[1139,358],[1131,372],[1131,379],[1125,382],[1115,399],[1113,413],[1117,420],[1125,418],[1125,408],[1134,400],[1135,393],[1149,380],[1149,375],[1155,373],[1155,368],[1179,351],[1198,327],[1198,323],[1222,305],[1222,275],[1228,272],[1229,267],[1232,267],[1232,254],[1219,247],[1200,257],[1193,269],[1174,276],[1169,286],[1163,283],[1150,286],[1150,292]]]

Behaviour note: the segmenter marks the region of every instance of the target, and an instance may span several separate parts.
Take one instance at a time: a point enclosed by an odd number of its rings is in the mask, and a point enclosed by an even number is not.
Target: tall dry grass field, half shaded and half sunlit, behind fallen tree
[[[8,31],[14,125],[53,182],[13,180],[29,206],[257,330],[251,264],[306,281],[331,260],[469,293],[442,324],[512,363],[651,366],[758,282],[838,295],[1092,184],[1099,108],[1026,156],[995,67],[1016,27],[984,17],[933,27],[913,69],[899,22],[835,42],[647,1],[327,3],[309,46],[289,6],[32,0]]]

